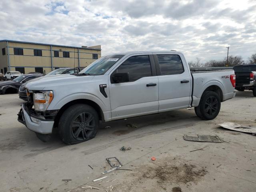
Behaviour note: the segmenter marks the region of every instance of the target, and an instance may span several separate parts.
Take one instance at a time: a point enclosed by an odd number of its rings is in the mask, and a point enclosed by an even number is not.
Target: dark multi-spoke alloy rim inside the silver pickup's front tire
[[[95,125],[94,116],[83,112],[72,123],[72,135],[76,140],[84,141],[91,137]]]

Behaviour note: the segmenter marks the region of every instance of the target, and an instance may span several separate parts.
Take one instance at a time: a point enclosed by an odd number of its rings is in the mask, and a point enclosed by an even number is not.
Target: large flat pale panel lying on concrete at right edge
[[[229,130],[239,131],[243,133],[251,133],[252,135],[256,135],[256,127],[242,126],[240,124],[233,123],[233,122],[224,122],[217,125]]]

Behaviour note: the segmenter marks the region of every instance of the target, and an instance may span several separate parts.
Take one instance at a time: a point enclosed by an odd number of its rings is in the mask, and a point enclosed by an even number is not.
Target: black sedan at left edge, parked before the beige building
[[[14,80],[9,80],[0,83],[0,94],[18,93],[18,90],[22,84],[28,82],[31,79],[41,77],[42,74],[23,74],[16,77]]]

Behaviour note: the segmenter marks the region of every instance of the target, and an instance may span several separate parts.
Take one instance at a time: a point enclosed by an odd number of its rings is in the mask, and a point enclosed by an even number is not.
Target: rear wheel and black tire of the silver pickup
[[[196,115],[204,120],[212,120],[220,112],[220,96],[213,91],[207,91],[202,95],[199,106],[195,108]]]

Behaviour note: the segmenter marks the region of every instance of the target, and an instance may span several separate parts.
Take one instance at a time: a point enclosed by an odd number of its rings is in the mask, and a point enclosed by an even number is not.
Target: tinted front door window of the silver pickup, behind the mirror
[[[130,81],[152,76],[148,55],[133,56],[123,62],[117,69],[118,73],[129,73]]]

